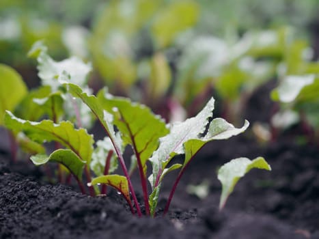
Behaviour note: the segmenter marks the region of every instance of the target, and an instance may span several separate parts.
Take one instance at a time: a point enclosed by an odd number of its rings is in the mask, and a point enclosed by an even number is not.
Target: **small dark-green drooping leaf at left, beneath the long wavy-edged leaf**
[[[55,150],[52,154],[36,154],[30,158],[35,165],[44,165],[48,161],[54,161],[64,165],[79,180],[82,178],[85,162],[82,161],[72,150]]]

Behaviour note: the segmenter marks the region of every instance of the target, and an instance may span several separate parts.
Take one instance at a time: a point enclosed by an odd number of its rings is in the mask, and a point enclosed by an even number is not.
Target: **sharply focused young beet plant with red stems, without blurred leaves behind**
[[[47,69],[50,71],[50,69]],[[131,102],[128,98],[112,96],[106,89],[101,89],[96,96],[87,93],[77,83],[72,74],[66,70],[57,72],[52,81],[62,92],[70,94],[72,100],[81,100],[95,115],[104,128],[107,137],[97,141],[94,148],[94,138],[87,130],[75,126],[70,121],[53,122],[44,119],[40,122],[21,119],[10,111],[6,111],[5,126],[15,132],[24,132],[29,139],[44,143],[55,141],[63,146],[49,155],[36,154],[31,156],[35,165],[57,162],[64,165],[74,176],[85,193],[82,181],[83,171],[89,179],[89,188],[94,188],[96,194],[105,193],[105,185],[112,186],[128,202],[133,214],[142,215],[137,201],[136,191],[130,180],[134,169],[139,171],[145,214],[154,216],[163,178],[170,171],[178,170],[178,176],[171,187],[171,193],[164,209],[169,210],[180,178],[189,166],[195,154],[208,142],[217,139],[228,139],[245,131],[249,122],[242,128],[235,128],[222,118],[212,119],[214,99],[211,98],[204,109],[195,117],[184,122],[166,125],[163,119],[154,115],[148,107]],[[78,101],[77,101],[78,102]],[[130,169],[124,160],[124,149],[127,145],[133,148]],[[182,164],[171,164],[172,158],[178,154],[184,155]],[[114,174],[117,163],[124,175]],[[152,174],[147,175],[147,168],[152,167]],[[234,185],[247,171],[253,168],[270,170],[264,158],[254,160],[236,158],[219,169],[218,178],[222,183],[220,208],[223,208]],[[90,180],[91,170],[96,178]],[[102,184],[101,188],[98,185]]]

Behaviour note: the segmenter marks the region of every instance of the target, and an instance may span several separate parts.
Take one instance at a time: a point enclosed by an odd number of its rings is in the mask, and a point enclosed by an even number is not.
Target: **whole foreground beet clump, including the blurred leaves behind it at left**
[[[35,165],[59,163],[62,165],[58,169],[59,175],[73,175],[82,193],[86,193],[84,182],[88,182],[92,196],[105,194],[106,185],[112,186],[126,199],[131,212],[138,216],[142,211],[130,180],[135,169],[139,173],[148,216],[155,216],[165,175],[179,170],[164,209],[166,214],[180,178],[197,152],[206,143],[228,139],[249,126],[247,121],[241,128],[236,128],[223,118],[213,119],[214,98],[210,98],[195,117],[165,124],[145,105],[113,96],[106,88],[93,95],[86,81],[91,66],[77,57],[54,61],[42,42],[36,42],[29,55],[38,59],[42,86],[27,92],[20,76],[12,68],[1,65],[0,91],[5,97],[0,103],[0,123],[12,130],[12,139],[31,152]],[[104,139],[96,142],[87,132],[95,119],[106,133]],[[47,154],[43,143],[51,141],[55,142],[55,150]],[[123,154],[128,145],[133,149],[130,168]],[[174,163],[172,159],[180,154],[184,155],[183,163]],[[118,165],[123,175],[115,173]],[[152,168],[150,175],[147,175],[148,167]],[[219,169],[220,208],[239,178],[253,168],[271,170],[262,157],[254,160],[236,158]],[[83,180],[83,174],[86,180]]]

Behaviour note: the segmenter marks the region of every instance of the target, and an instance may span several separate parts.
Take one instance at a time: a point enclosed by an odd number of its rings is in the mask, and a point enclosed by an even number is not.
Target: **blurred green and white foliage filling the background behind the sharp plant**
[[[0,62],[38,86],[27,52],[44,40],[53,59],[92,62],[94,91],[107,85],[167,121],[214,94],[220,114],[240,122],[262,85],[317,74],[318,9],[316,0],[3,0]]]

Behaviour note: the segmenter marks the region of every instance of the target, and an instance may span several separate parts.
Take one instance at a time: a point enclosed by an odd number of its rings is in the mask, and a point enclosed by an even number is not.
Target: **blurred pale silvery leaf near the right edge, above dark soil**
[[[303,87],[311,85],[314,80],[314,74],[286,76],[277,89],[271,93],[271,96],[273,100],[280,100],[285,103],[292,102],[299,96]]]

